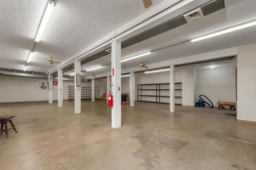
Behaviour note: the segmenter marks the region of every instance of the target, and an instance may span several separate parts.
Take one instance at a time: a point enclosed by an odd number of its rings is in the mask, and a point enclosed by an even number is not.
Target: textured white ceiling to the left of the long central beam
[[[47,2],[1,0],[0,69],[23,70]],[[45,73],[49,56],[65,61],[143,12],[141,0],[58,0],[27,70]]]

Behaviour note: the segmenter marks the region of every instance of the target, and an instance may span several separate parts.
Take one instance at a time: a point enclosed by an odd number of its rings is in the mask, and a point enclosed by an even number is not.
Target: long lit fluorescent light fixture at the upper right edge
[[[252,20],[250,22],[245,22],[243,24],[239,24],[239,25],[229,27],[229,28],[226,28],[226,29],[223,29],[223,30],[219,30],[219,31],[207,34],[205,36],[201,36],[201,37],[198,37],[198,38],[192,38],[192,39],[190,39],[190,42],[197,42],[197,41],[200,41],[200,40],[204,40],[206,38],[219,36],[221,34],[226,34],[228,32],[233,32],[233,31],[236,31],[236,30],[240,30],[240,29],[247,28],[247,27],[250,27],[250,26],[255,26],[255,25],[256,25],[256,20]]]

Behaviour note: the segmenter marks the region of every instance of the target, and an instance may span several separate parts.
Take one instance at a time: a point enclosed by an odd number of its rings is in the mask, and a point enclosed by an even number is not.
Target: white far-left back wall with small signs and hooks
[[[47,80],[34,77],[18,77],[0,75],[0,103],[20,101],[48,101],[48,90],[40,90],[40,85]],[[53,81],[58,81],[53,79]],[[68,86],[74,81],[63,81],[63,100],[68,99]],[[90,82],[81,82],[81,86],[91,86]],[[53,86],[53,100],[58,100],[58,86]]]

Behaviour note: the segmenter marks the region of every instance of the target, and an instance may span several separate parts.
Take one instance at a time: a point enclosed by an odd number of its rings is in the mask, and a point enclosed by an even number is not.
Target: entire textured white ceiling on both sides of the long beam
[[[163,0],[152,0],[154,8]],[[194,0],[194,4],[202,0]],[[122,63],[122,69],[196,55],[230,47],[256,43],[256,26],[214,37],[202,42],[188,40],[216,30],[256,19],[255,0],[224,0],[225,8],[148,40],[122,49],[122,58],[154,51],[152,55]],[[0,5],[0,69],[22,70],[42,18],[47,0],[9,0]],[[189,8],[187,6],[186,8]],[[191,7],[192,8],[192,7]],[[47,62],[63,62],[100,40],[110,32],[146,12],[142,0],[58,0],[27,71],[46,73],[56,66]],[[181,43],[184,42],[184,43]],[[175,45],[181,43],[179,45]],[[163,47],[174,45],[165,49]],[[95,74],[110,70],[107,55],[82,66],[82,70],[106,65]],[[65,75],[74,71],[68,71]],[[91,75],[83,72],[82,77]]]

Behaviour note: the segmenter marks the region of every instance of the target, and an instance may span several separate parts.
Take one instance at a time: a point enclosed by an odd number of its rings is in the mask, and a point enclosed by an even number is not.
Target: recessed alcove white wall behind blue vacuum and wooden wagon
[[[199,95],[205,95],[212,101],[214,107],[219,99],[236,102],[236,68],[234,66],[199,69],[196,71],[196,79],[197,100]]]

